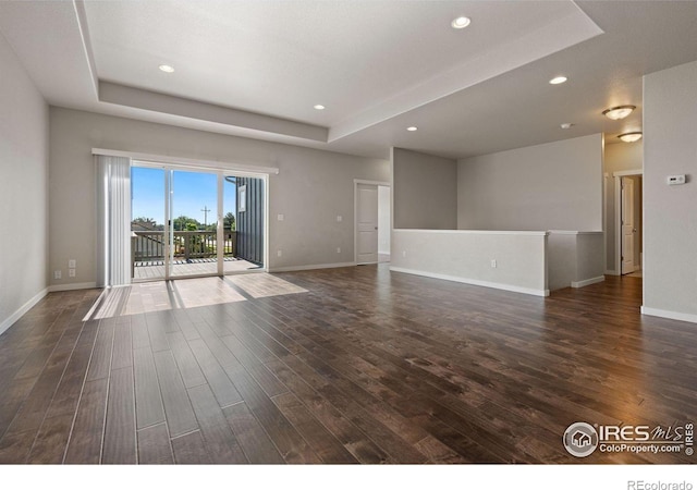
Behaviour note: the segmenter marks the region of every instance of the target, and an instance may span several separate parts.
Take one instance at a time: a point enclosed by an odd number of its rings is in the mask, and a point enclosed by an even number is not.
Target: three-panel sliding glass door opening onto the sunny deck
[[[133,280],[264,270],[265,187],[222,171],[134,166]]]

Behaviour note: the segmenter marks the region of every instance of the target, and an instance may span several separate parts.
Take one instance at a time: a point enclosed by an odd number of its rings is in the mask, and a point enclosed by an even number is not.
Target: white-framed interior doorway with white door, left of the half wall
[[[354,181],[356,265],[390,261],[390,184]]]

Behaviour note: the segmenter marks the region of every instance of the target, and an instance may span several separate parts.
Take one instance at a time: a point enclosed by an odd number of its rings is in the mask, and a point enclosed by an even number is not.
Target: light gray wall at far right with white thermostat
[[[644,78],[644,310],[697,321],[697,62]],[[687,174],[669,186],[668,175]]]

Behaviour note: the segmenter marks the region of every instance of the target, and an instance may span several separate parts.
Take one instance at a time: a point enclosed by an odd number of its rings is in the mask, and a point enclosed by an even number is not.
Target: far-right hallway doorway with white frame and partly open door
[[[643,275],[643,191],[641,171],[615,173],[616,262],[622,275]]]

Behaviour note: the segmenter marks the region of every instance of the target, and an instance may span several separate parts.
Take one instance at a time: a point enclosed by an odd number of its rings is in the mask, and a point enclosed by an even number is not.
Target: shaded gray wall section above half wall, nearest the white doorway
[[[395,229],[457,228],[457,162],[392,148]]]

